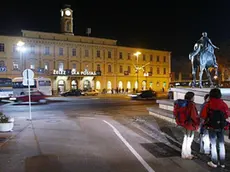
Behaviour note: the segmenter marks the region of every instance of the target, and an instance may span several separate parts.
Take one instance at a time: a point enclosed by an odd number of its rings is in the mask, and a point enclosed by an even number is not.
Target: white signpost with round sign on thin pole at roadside
[[[23,82],[22,84],[25,86],[28,86],[28,93],[29,93],[29,114],[30,118],[29,120],[32,120],[31,115],[31,97],[30,97],[30,86],[34,85],[34,72],[31,69],[25,69],[22,73],[23,76]]]

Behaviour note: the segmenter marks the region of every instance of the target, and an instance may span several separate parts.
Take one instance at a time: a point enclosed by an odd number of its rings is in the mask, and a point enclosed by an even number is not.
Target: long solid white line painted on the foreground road
[[[140,161],[140,163],[145,167],[148,172],[155,172],[149,164],[137,153],[137,151],[125,140],[125,138],[120,134],[120,132],[109,122],[103,120],[106,124],[108,124],[114,131],[114,133],[121,139],[121,141],[129,148],[129,150],[133,153],[133,155]]]

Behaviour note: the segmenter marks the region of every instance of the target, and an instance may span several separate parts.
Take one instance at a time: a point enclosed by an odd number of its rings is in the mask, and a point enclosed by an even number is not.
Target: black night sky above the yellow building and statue
[[[21,29],[59,32],[60,9],[70,4],[76,35],[86,35],[90,27],[93,37],[116,39],[123,46],[169,50],[174,59],[187,57],[203,31],[217,46],[230,37],[228,0],[53,2],[1,1],[0,34],[18,35]]]

